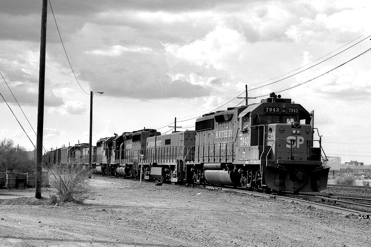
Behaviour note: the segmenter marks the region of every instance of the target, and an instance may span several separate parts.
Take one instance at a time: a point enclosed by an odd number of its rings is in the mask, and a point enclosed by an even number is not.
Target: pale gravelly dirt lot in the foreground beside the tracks
[[[0,246],[371,246],[371,220],[264,197],[93,177],[85,204],[0,190]]]

